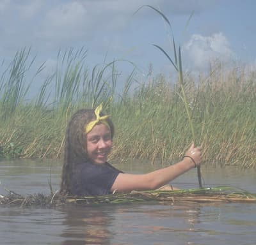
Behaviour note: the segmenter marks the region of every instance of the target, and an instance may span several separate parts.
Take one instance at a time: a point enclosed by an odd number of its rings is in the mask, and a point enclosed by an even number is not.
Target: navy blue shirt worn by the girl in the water
[[[72,175],[72,195],[108,195],[120,173],[122,171],[109,163],[94,164],[90,161],[80,163]]]

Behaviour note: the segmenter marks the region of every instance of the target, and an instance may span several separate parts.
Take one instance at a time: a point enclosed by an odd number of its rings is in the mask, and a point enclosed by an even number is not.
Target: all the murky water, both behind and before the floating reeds
[[[4,188],[22,195],[49,194],[60,183],[58,161],[0,162]],[[148,172],[149,165],[124,165]],[[204,169],[204,186],[232,185],[256,193],[255,170]],[[196,171],[175,181],[197,187]],[[0,244],[256,244],[256,204],[129,204],[57,209],[0,207]]]

